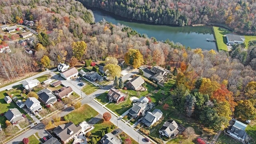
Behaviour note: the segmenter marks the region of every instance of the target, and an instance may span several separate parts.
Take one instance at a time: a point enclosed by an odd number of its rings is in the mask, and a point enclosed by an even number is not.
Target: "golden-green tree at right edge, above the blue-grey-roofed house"
[[[256,118],[256,108],[250,100],[240,100],[237,102],[234,115],[242,120],[254,120]]]

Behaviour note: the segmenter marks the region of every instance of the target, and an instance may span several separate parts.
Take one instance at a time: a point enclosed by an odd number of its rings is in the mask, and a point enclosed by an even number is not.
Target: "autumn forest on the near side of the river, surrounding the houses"
[[[74,0],[2,0],[0,6],[2,23],[13,24],[17,16],[38,21],[33,27],[38,36],[29,45],[32,56],[5,41],[12,52],[0,54],[1,78],[11,80],[60,62],[74,66],[88,59],[124,58],[128,50],[136,49],[144,65],[178,69],[170,96],[187,117],[214,130],[225,128],[231,117],[256,118],[256,46],[244,50],[238,45],[228,53],[158,42],[123,25],[94,23],[92,13]]]

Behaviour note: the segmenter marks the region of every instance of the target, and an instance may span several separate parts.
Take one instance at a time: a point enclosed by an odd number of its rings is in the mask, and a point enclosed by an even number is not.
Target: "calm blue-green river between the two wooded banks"
[[[211,40],[214,39],[212,33],[212,27],[210,26],[184,26],[184,27],[174,27],[174,26],[164,26],[164,25],[153,25],[146,24],[143,22],[135,22],[134,20],[128,20],[125,18],[120,18],[109,12],[97,8],[91,9],[95,22],[105,19],[112,24],[124,24],[136,30],[140,34],[146,34],[149,38],[155,37],[159,41],[165,41],[169,39],[175,43],[180,43],[190,48],[202,48],[204,50],[216,50],[215,42],[208,42],[206,38]]]

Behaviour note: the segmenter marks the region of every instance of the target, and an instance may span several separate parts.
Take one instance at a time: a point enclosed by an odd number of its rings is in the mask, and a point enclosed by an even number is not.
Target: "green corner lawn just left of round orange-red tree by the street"
[[[70,121],[73,122],[74,124],[79,124],[84,120],[88,122],[91,118],[98,115],[98,112],[96,112],[96,110],[94,110],[87,104],[84,104],[83,106],[74,110],[70,114],[72,115],[72,118],[70,119]]]

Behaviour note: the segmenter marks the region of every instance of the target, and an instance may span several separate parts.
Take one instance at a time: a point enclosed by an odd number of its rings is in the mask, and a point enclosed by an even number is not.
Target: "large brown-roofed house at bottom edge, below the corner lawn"
[[[61,124],[54,128],[53,132],[62,140],[64,144],[69,142],[76,134],[82,130],[81,126],[76,126],[74,123]]]

